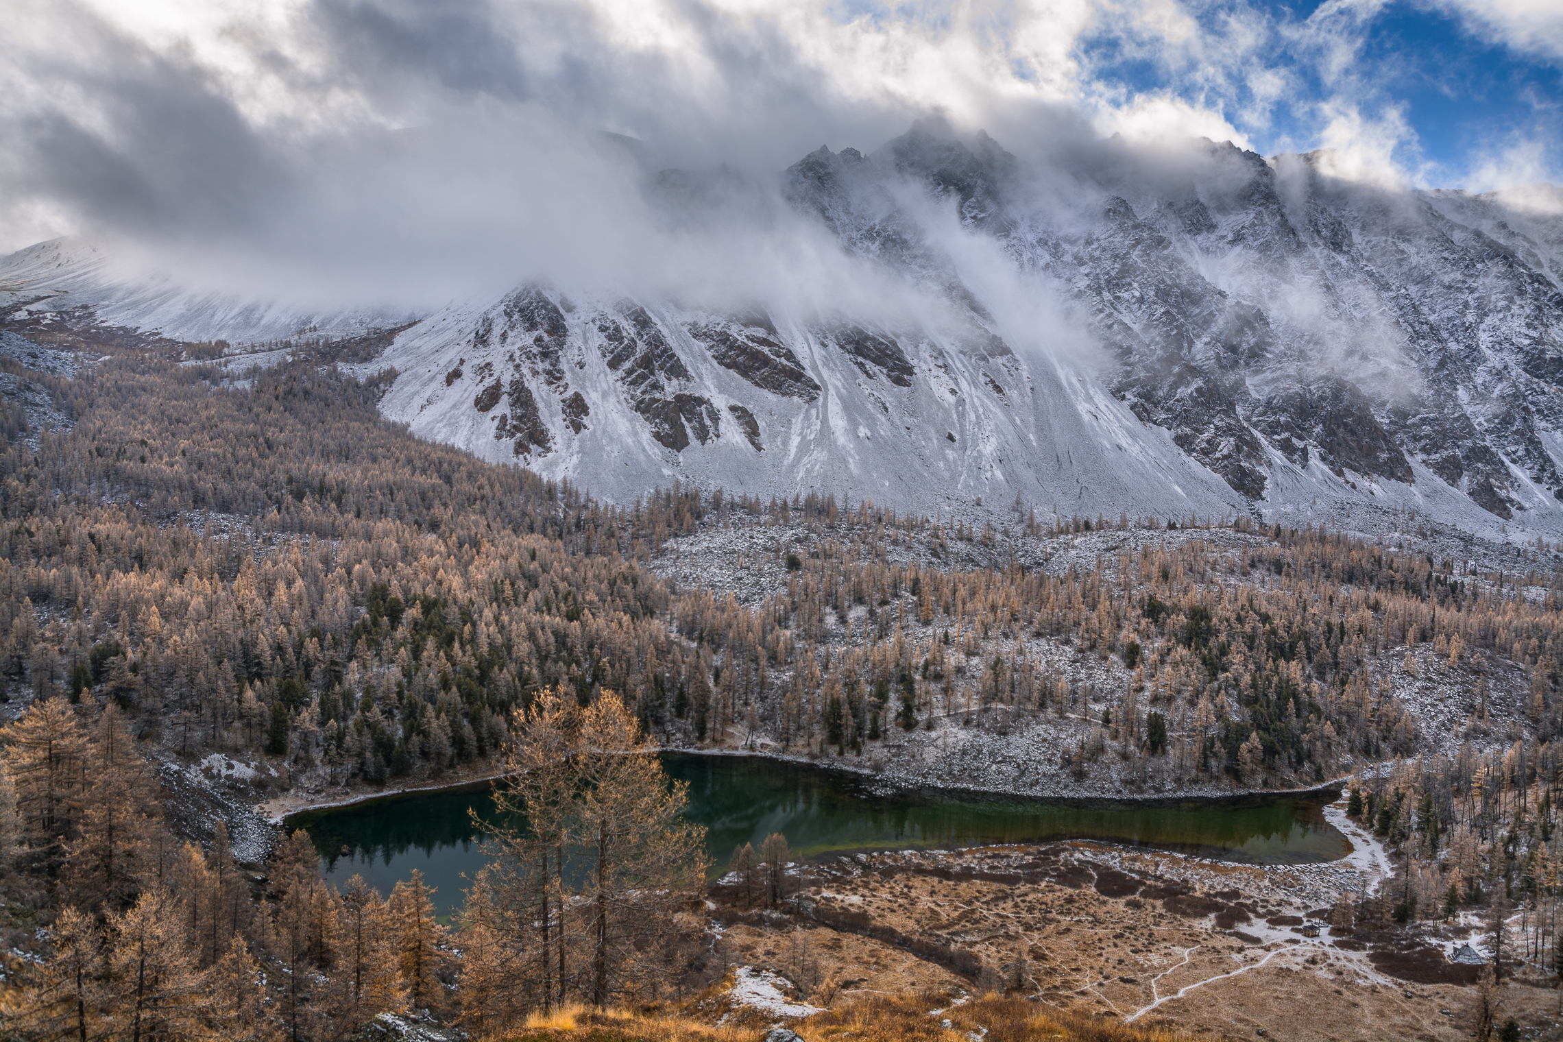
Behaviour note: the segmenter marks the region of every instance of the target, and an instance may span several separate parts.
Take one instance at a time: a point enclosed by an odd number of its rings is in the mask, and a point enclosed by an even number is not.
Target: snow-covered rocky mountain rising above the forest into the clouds
[[[1025,162],[917,125],[871,155],[822,147],[777,186],[647,180],[650,205],[708,222],[735,192],[780,200],[905,287],[896,308],[531,281],[419,316],[300,316],[42,244],[0,262],[0,309],[234,342],[416,317],[355,361],[400,370],[388,416],[616,500],[680,478],[930,512],[1019,497],[1039,517],[1380,528],[1415,509],[1563,533],[1563,192],[1330,167],[1210,142]]]

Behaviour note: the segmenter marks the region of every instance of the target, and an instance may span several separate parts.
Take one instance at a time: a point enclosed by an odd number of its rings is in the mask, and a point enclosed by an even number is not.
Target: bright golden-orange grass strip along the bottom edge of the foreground
[[[794,1023],[792,1030],[807,1042],[966,1042],[983,1031],[985,1042],[1188,1042],[1194,1037],[1082,1017],[1024,998],[989,995],[961,1006],[949,1003],[950,997],[942,994],[875,995],[844,1001]],[[928,1015],[935,1009],[941,1012]],[[671,1009],[570,1008],[533,1017],[520,1031],[500,1033],[486,1042],[758,1042],[764,1034],[758,1022],[716,1026]]]

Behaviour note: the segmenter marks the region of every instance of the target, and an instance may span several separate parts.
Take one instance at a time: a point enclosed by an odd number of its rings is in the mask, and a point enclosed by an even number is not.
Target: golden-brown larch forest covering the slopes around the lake
[[[384,422],[394,372],[192,355],[5,362],[53,417],[11,405],[0,430],[22,1037],[330,1039],[419,1009],[500,1033],[683,998],[721,967],[652,751],[882,770],[936,728],[1061,728],[1049,770],[1141,794],[1352,776],[1399,875],[1341,922],[1477,909],[1499,981],[1558,973],[1557,547],[1494,569],[1250,519],[1016,503],[974,526],[680,486],[610,505]],[[669,567],[735,531],[764,558],[735,567],[782,576],[753,597]],[[1402,698],[1430,676],[1465,692],[1452,728]],[[441,923],[416,878],[327,886],[303,833],[236,856],[167,786],[214,756],[261,795],[508,773],[545,826],[495,834]],[[583,883],[563,864],[591,844]],[[785,844],[752,858],[785,867]]]

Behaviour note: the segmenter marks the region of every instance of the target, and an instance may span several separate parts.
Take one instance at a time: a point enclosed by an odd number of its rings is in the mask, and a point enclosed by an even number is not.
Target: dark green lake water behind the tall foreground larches
[[[689,783],[688,815],[706,826],[717,865],[733,847],[755,848],[771,833],[794,855],[950,850],[997,844],[1094,839],[1243,861],[1304,864],[1343,858],[1346,837],[1318,800],[1275,798],[1252,806],[1191,801],[1172,806],[1066,806],[947,792],[874,792],[842,772],[755,756],[666,755],[672,778]],[[485,862],[472,811],[492,820],[488,789],[394,797],[289,819],[306,828],[322,872],[336,884],[358,873],[389,892],[414,869],[438,887],[442,912]]]

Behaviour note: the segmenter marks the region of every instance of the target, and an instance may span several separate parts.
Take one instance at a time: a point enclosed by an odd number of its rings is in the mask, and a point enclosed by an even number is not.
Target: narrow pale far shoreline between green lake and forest
[[[1346,784],[1350,781],[1352,775],[1343,775],[1330,781],[1324,781],[1316,786],[1305,789],[1239,789],[1230,794],[1211,794],[1211,792],[1189,792],[1189,794],[1153,794],[1153,795],[1138,795],[1138,794],[1119,794],[1119,795],[1046,795],[1036,792],[1022,792],[1014,789],[994,789],[994,787],[977,787],[977,786],[949,786],[932,781],[913,781],[899,776],[885,776],[866,769],[850,767],[847,764],[836,762],[821,762],[817,759],[810,759],[807,756],[786,756],[778,753],[767,753],[761,750],[735,750],[735,748],[708,748],[708,750],[692,750],[667,747],[656,750],[658,755],[674,755],[674,756],[697,756],[697,758],[733,758],[733,759],[763,759],[769,762],[788,764],[792,767],[800,767],[805,770],[819,770],[832,775],[842,775],[849,778],[853,784],[860,784],[869,789],[874,795],[885,797],[914,797],[914,798],[936,798],[936,797],[960,797],[969,800],[983,801],[1027,801],[1027,803],[1044,803],[1050,806],[1063,808],[1080,808],[1080,809],[1161,809],[1161,808],[1205,808],[1205,806],[1222,806],[1222,808],[1249,808],[1263,806],[1272,800],[1310,800],[1318,798],[1321,803],[1333,803],[1339,800],[1344,792]],[[291,830],[297,828],[299,819],[308,819],[319,814],[330,814],[334,811],[345,809],[363,809],[367,806],[375,806],[381,803],[397,803],[400,800],[413,800],[420,797],[439,795],[439,794],[456,794],[456,792],[477,792],[495,781],[506,778],[506,772],[486,772],[477,773],[470,778],[453,778],[450,781],[441,781],[438,784],[420,784],[420,786],[403,786],[397,789],[380,789],[345,795],[342,798],[328,800],[295,800],[291,794],[274,797],[256,805],[256,809],[274,825]]]

